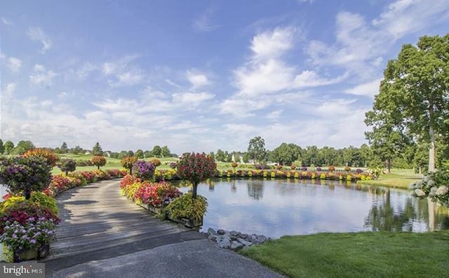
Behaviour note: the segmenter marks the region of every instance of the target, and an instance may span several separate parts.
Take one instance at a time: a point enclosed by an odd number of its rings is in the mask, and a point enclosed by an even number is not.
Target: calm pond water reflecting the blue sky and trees
[[[187,192],[189,187],[181,187]],[[198,186],[208,211],[201,231],[238,230],[278,238],[317,232],[449,229],[447,209],[410,197],[408,190],[339,181],[223,180]],[[429,217],[430,216],[430,217]],[[429,220],[430,219],[430,220]]]

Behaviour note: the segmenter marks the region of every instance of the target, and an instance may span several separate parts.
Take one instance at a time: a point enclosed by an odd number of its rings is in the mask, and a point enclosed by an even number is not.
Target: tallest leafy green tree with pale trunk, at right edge
[[[388,62],[375,100],[377,109],[398,111],[406,131],[429,143],[429,172],[435,171],[436,134],[449,131],[448,88],[449,34],[423,36]]]

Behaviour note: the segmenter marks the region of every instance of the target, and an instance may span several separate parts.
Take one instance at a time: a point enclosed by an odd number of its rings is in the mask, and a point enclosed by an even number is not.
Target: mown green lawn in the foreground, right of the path
[[[286,236],[240,253],[288,277],[449,277],[449,232]]]

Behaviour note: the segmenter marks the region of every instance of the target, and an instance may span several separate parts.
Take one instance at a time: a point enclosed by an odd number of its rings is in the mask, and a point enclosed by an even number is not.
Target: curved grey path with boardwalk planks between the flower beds
[[[281,277],[120,195],[119,181],[56,197],[62,222],[46,277]]]

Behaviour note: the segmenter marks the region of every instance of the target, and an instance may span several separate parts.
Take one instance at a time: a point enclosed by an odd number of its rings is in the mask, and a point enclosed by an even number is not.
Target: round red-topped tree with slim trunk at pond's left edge
[[[192,198],[196,199],[198,183],[213,176],[217,163],[206,153],[185,153],[177,163],[177,174],[193,184]]]

